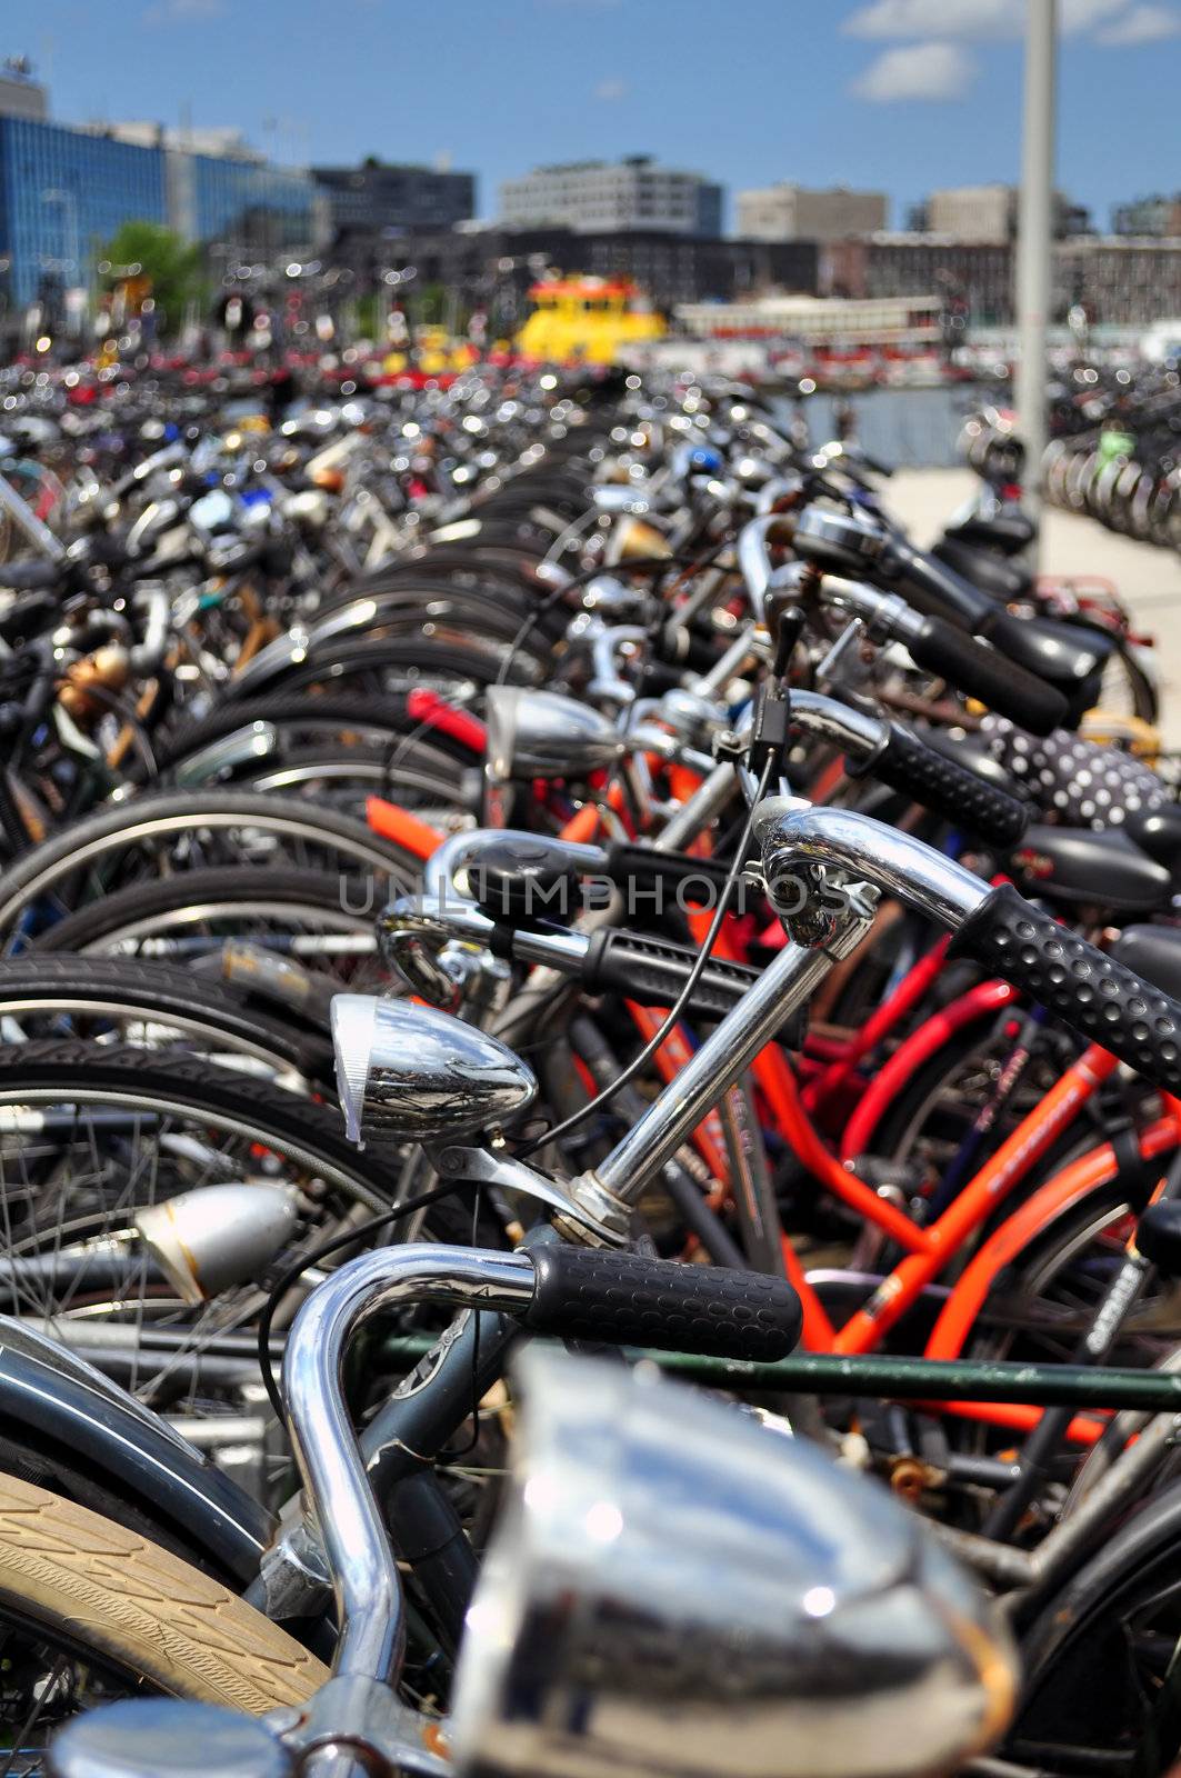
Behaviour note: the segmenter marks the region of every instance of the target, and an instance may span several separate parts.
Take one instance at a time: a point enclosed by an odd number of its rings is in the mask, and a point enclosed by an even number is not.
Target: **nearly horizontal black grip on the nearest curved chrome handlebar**
[[[786,1358],[800,1337],[799,1296],[761,1271],[557,1245],[530,1259],[537,1287],[521,1321],[534,1334],[756,1362]]]

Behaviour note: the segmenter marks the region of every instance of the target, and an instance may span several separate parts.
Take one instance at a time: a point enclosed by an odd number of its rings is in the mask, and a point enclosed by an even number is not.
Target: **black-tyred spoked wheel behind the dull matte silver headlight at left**
[[[274,1278],[386,1209],[402,1165],[386,1143],[356,1150],[329,1106],[217,1063],[82,1042],[0,1049],[0,1307],[157,1408],[235,1406],[258,1382],[251,1330]],[[249,1277],[192,1303],[141,1218],[215,1184],[286,1188],[290,1221]],[[432,1207],[436,1237],[468,1239],[470,1218],[446,1211]]]

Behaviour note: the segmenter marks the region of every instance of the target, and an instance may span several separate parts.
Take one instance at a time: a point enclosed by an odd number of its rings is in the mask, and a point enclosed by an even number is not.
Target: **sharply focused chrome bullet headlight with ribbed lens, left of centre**
[[[336,1092],[345,1131],[395,1141],[491,1134],[532,1104],[537,1081],[498,1038],[432,1006],[333,997]]]

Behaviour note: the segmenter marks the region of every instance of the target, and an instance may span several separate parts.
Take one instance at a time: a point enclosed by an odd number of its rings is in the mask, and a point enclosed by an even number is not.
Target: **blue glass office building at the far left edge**
[[[123,222],[167,222],[162,148],[0,117],[0,254],[11,308],[55,283],[91,284]]]

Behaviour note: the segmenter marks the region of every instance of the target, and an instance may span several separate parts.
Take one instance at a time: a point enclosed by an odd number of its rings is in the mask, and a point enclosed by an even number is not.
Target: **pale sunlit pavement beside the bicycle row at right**
[[[888,500],[914,541],[925,544],[976,485],[968,469],[898,469]],[[1085,573],[1115,581],[1138,626],[1156,637],[1165,745],[1181,749],[1181,557],[1117,537],[1094,519],[1049,509],[1040,567],[1046,574]]]

